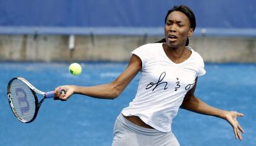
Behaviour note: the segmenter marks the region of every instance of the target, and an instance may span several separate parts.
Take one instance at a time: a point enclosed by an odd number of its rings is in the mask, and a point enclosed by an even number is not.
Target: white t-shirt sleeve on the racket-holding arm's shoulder
[[[143,68],[145,67],[145,64],[148,61],[147,44],[140,46],[137,49],[135,49],[134,51],[132,51],[130,53],[130,56],[132,56],[133,54],[137,55],[140,58],[140,60],[142,60],[142,70],[143,70]]]

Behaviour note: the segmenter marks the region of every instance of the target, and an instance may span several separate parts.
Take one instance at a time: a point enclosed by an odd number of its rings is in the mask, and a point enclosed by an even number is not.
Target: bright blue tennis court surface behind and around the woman
[[[139,75],[116,100],[74,95],[67,102],[45,100],[33,123],[15,119],[7,101],[10,79],[22,76],[38,89],[51,91],[62,84],[92,86],[113,81],[127,63],[84,62],[83,72],[72,76],[69,63],[0,63],[0,145],[96,145],[109,146],[116,116],[134,98]],[[256,144],[256,65],[206,64],[207,74],[198,78],[197,96],[210,105],[244,113],[239,119],[244,140],[234,139],[233,129],[219,118],[179,110],[173,131],[184,146]],[[38,97],[40,97],[38,95]]]

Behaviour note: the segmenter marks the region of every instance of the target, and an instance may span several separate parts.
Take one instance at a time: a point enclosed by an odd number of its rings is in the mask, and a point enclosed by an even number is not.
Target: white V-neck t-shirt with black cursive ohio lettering
[[[192,54],[182,63],[172,62],[163,50],[163,43],[145,44],[131,54],[142,60],[137,94],[122,110],[125,116],[139,116],[151,127],[171,131],[171,123],[187,91],[197,76],[206,73],[202,57],[190,47]]]

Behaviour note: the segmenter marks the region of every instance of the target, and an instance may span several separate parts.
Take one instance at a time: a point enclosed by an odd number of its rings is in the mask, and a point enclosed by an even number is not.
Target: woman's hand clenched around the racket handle
[[[66,93],[61,94],[61,90],[64,89]],[[54,90],[55,100],[61,100],[61,101],[66,101],[69,99],[71,95],[73,95],[75,92],[75,86],[74,85],[65,85],[65,86],[59,86],[56,87]]]

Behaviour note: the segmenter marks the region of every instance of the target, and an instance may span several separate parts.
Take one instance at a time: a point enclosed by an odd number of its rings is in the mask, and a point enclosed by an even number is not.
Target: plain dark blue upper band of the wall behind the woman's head
[[[256,28],[255,0],[0,0],[0,26],[162,27],[179,4],[198,28]]]

